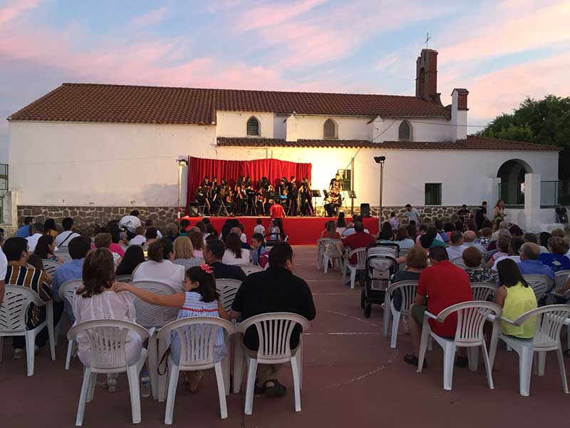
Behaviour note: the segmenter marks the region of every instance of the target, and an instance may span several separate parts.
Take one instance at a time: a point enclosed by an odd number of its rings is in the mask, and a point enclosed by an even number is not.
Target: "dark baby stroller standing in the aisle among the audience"
[[[375,243],[366,250],[366,287],[361,293],[361,307],[366,318],[371,315],[373,303],[381,305],[384,302],[390,278],[398,270],[396,259],[399,254],[398,244],[390,243]]]

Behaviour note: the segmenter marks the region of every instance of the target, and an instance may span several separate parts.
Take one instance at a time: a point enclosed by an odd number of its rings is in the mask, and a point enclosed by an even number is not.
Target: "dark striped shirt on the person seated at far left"
[[[46,273],[35,267],[9,264],[4,282],[6,285],[21,285],[31,288],[38,293],[44,302],[51,300],[51,285],[48,284]],[[30,303],[26,313],[26,326],[28,328],[36,327],[43,320],[46,320],[46,307],[37,307]]]

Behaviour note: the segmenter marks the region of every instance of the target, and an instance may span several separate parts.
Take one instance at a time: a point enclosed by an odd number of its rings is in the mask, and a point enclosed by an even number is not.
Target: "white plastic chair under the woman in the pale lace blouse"
[[[93,400],[97,374],[127,372],[130,391],[130,406],[133,424],[140,423],[140,389],[139,375],[142,365],[147,359],[147,350],[142,349],[137,362],[127,365],[125,340],[129,331],[136,332],[142,341],[148,337],[148,332],[134,322],[122,320],[93,320],[81,322],[69,329],[68,340],[76,340],[79,333],[89,342],[91,363],[84,367],[83,384],[77,407],[76,427],[83,424],[83,413],[86,402]]]

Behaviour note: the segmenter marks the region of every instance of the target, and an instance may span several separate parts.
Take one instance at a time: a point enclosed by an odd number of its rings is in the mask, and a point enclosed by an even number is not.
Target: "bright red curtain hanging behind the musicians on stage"
[[[188,159],[187,201],[194,200],[196,189],[206,175],[210,180],[216,177],[218,183],[225,178],[231,186],[235,184],[239,175],[244,175],[244,177],[249,175],[254,183],[262,177],[267,177],[271,183],[275,184],[281,177],[289,180],[291,175],[295,175],[297,180],[305,177],[311,180],[311,167],[311,163],[295,163],[279,161],[279,159],[219,161],[191,156]]]

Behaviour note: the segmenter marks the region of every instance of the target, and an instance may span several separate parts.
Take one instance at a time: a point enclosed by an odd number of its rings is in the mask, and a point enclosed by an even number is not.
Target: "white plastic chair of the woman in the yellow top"
[[[517,339],[508,335],[500,334],[491,342],[490,358],[491,363],[497,352],[498,339],[502,340],[519,354],[519,392],[523,397],[528,397],[530,393],[530,378],[532,374],[532,358],[534,352],[538,353],[538,361],[535,362],[535,370],[539,376],[544,376],[546,365],[546,352],[556,351],[560,368],[560,378],[562,390],[568,394],[568,383],[566,382],[566,370],[564,368],[564,355],[562,355],[562,345],[560,341],[560,330],[570,316],[570,305],[549,305],[529,310],[516,320],[501,318],[504,322],[512,325],[522,325],[523,322],[532,317],[537,317],[537,327],[534,330],[532,339]]]

